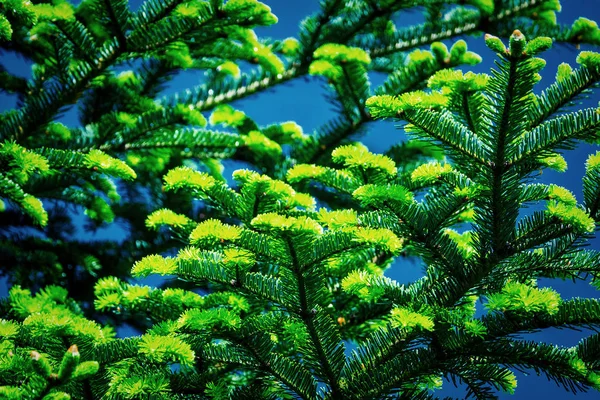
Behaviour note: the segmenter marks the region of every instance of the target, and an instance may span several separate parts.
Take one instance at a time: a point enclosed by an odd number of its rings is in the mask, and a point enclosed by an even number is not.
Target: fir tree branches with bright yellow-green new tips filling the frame
[[[600,325],[598,300],[537,285],[598,274],[600,253],[582,246],[600,221],[600,154],[583,204],[534,182],[565,169],[561,150],[600,139],[598,109],[566,109],[600,81],[598,53],[533,91],[550,37],[599,44],[595,23],[558,25],[554,0],[329,0],[297,40],[274,41],[251,30],[276,21],[255,0],[2,4],[0,49],[35,64],[29,81],[0,70],[20,101],[0,116],[13,283],[1,396],[426,399],[448,377],[494,398],[514,392],[514,369],[600,389],[597,334],[571,348],[515,338]],[[423,24],[391,22],[414,7]],[[479,56],[439,40],[481,32],[497,69],[456,70]],[[206,82],[160,97],[184,69]],[[370,71],[388,79],[373,90]],[[327,81],[339,111],[314,135],[227,104],[305,74]],[[56,121],[74,105],[82,127]],[[350,140],[383,117],[412,139],[386,155]],[[223,159],[256,171],[229,184]],[[545,209],[520,218],[534,202]],[[127,221],[132,244],[74,240],[65,205],[90,229]],[[425,276],[386,278],[402,255]],[[121,322],[142,334],[115,338]]]

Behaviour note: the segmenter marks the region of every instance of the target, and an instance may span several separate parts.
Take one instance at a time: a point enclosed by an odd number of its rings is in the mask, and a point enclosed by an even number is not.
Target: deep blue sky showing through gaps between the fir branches
[[[290,36],[296,36],[300,21],[307,15],[317,11],[317,0],[263,0],[271,6],[279,22],[271,27],[259,28],[259,36],[270,36],[276,39],[283,39]],[[134,4],[135,3],[135,4]],[[564,11],[559,13],[559,21],[562,23],[572,23],[577,17],[584,16],[595,21],[600,21],[600,0],[563,0]],[[133,2],[132,8],[137,8],[139,2]],[[407,13],[400,16],[400,21],[418,20],[417,13]],[[494,55],[483,44],[483,38],[467,37],[470,50],[478,52],[483,56],[484,62],[471,70],[477,72],[488,72],[493,66]],[[585,47],[583,49],[592,49]],[[595,49],[598,50],[598,49]],[[562,62],[567,62],[575,66],[575,58],[579,50],[572,46],[559,45],[544,54],[547,60],[547,67],[542,73],[543,79],[539,84],[540,89],[549,85],[556,72],[556,67]],[[21,76],[29,76],[30,68],[26,62],[20,60],[11,54],[0,54],[2,64],[10,71],[18,71]],[[466,68],[469,69],[469,68]],[[198,84],[202,79],[199,73],[185,73],[176,78],[167,88],[165,93],[171,94],[182,91],[188,87]],[[246,99],[238,100],[232,105],[246,112],[248,116],[258,122],[259,125],[266,125],[274,122],[296,121],[303,126],[305,132],[313,132],[321,124],[335,117],[331,110],[331,105],[325,100],[327,89],[323,82],[318,78],[300,78],[292,82],[277,86],[269,91]],[[13,96],[0,94],[0,111],[14,107]],[[586,106],[596,106],[600,100],[598,92],[594,92],[590,99],[585,101]],[[64,123],[77,125],[76,115],[73,112],[67,112],[61,119]],[[402,132],[395,128],[391,121],[378,121],[368,125],[366,133],[361,140],[369,147],[371,151],[383,152],[392,144],[404,139]],[[566,173],[559,174],[552,171],[545,171],[541,176],[541,182],[556,183],[570,189],[575,193],[579,201],[582,200],[581,177],[584,173],[585,159],[596,150],[598,146],[582,145],[576,150],[566,153],[566,159],[569,168]],[[116,229],[106,229],[100,232],[100,235],[121,236],[123,231]],[[596,239],[592,243],[592,248],[600,249],[600,241]],[[422,266],[417,263],[396,263],[388,271],[388,276],[400,281],[410,282],[422,274]],[[542,286],[552,285],[562,295],[563,298],[572,297],[596,297],[598,295],[587,282],[549,281],[541,282]],[[2,288],[3,282],[0,282],[0,295],[6,293],[6,288]],[[4,289],[4,290],[3,290]],[[126,332],[123,332],[126,333]],[[589,332],[577,332],[570,330],[549,330],[541,333],[529,334],[524,337],[528,340],[542,340],[545,342],[556,343],[560,345],[575,345],[583,336],[589,335]],[[544,377],[527,376],[517,373],[519,386],[513,396],[501,395],[501,398],[528,399],[530,397],[541,398],[549,397],[552,399],[600,399],[600,394],[591,392],[580,394],[576,397],[559,389],[554,383],[548,382]],[[463,389],[454,389],[452,384],[445,383],[444,389],[440,394],[462,397]]]

